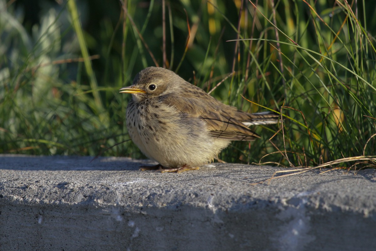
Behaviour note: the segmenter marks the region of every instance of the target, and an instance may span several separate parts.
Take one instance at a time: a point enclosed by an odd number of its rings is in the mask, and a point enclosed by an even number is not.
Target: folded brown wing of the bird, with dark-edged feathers
[[[184,96],[160,96],[160,101],[174,106],[178,111],[189,116],[205,120],[209,133],[214,138],[254,140],[260,137],[240,120],[234,118],[238,116],[237,108],[224,105],[198,87],[191,94]],[[243,120],[242,117],[240,119]],[[244,119],[249,119],[249,116]]]

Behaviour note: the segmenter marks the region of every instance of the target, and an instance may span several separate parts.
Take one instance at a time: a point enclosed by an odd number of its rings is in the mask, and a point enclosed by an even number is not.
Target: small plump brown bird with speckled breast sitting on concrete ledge
[[[130,138],[159,163],[140,170],[197,170],[232,140],[260,138],[248,126],[274,124],[279,118],[274,112],[247,113],[226,105],[161,67],[141,70],[119,92],[132,94],[126,110]]]

